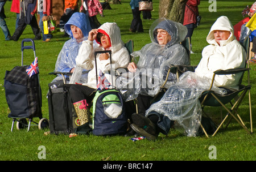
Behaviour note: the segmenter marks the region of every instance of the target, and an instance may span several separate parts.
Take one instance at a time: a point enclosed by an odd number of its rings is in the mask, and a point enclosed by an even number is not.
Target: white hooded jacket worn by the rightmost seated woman
[[[230,31],[228,40],[220,41],[220,45],[214,40],[213,31]],[[202,59],[195,72],[201,77],[212,80],[213,72],[216,70],[227,70],[229,68],[245,67],[245,49],[234,36],[233,25],[226,16],[221,16],[210,28],[207,36],[210,44],[203,49]],[[238,82],[242,73],[233,75],[216,75],[214,85],[217,87],[231,87],[238,89]]]

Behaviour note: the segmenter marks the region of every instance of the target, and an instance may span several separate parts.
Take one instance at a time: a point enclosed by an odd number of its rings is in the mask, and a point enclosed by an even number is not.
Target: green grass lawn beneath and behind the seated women
[[[134,40],[134,50],[139,50],[145,44],[150,43],[148,29],[154,20],[143,20],[144,33],[130,33],[130,23],[132,14],[128,0],[123,0],[122,5],[111,5],[113,10],[105,10],[104,18],[98,16],[100,23],[116,22],[121,29],[122,40],[124,42]],[[230,5],[232,3],[232,6]],[[201,1],[199,6],[202,16],[201,25],[195,29],[192,36],[193,51],[191,54],[191,64],[197,65],[201,59],[201,51],[208,45],[205,38],[214,21],[221,15],[226,15],[233,24],[242,19],[241,11],[246,5],[251,5],[251,1],[217,1],[217,12],[209,12],[208,1]],[[154,11],[152,18],[158,18],[159,1],[154,1]],[[10,12],[11,2],[7,1],[5,13],[7,25],[11,34],[15,29],[15,16]],[[140,140],[133,142],[123,136],[93,136],[80,135],[69,138],[67,135],[47,135],[47,130],[38,130],[36,126],[31,126],[30,131],[16,130],[11,132],[11,119],[7,117],[10,110],[6,103],[5,89],[3,88],[3,78],[6,70],[11,70],[21,64],[20,43],[23,38],[34,38],[31,27],[28,25],[18,42],[5,41],[2,31],[0,31],[0,160],[15,161],[39,161],[38,150],[40,145],[46,147],[46,159],[48,161],[64,160],[97,160],[107,158],[112,161],[209,161],[208,149],[211,145],[216,147],[217,161],[226,160],[255,160],[255,135],[249,135],[235,121],[230,123],[227,130],[221,130],[214,137],[207,139],[205,136],[186,137],[176,130],[171,130],[168,136],[160,135],[153,141]],[[36,55],[39,58],[40,85],[43,94],[43,117],[48,118],[48,102],[46,94],[48,83],[54,78],[48,75],[55,68],[57,55],[68,37],[63,37],[63,32],[54,33],[51,42],[35,41]],[[32,51],[32,50],[31,50]],[[30,50],[24,50],[24,64],[30,65],[34,60],[34,54]],[[255,114],[255,65],[251,65],[251,102],[253,114]],[[246,77],[244,82],[246,82]],[[248,98],[241,105],[239,111],[247,127],[249,126],[249,105]],[[209,115],[218,117],[219,112],[213,108],[207,108]],[[253,124],[255,126],[255,117]],[[37,121],[37,119],[35,119]],[[255,127],[254,127],[255,131]],[[42,159],[44,160],[44,159]],[[213,159],[215,160],[215,159]]]

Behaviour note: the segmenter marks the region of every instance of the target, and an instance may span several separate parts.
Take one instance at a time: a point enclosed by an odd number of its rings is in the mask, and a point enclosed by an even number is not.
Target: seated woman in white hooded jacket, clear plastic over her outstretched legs
[[[195,72],[185,72],[180,80],[171,85],[162,99],[152,104],[146,117],[133,115],[131,128],[148,140],[155,140],[159,132],[168,134],[174,121],[187,132],[196,136],[201,121],[200,94],[209,89],[213,72],[219,69],[245,66],[246,52],[233,35],[233,25],[226,16],[221,16],[212,25],[207,36],[210,44],[203,49],[202,59]],[[241,73],[219,75],[214,79],[213,90],[225,93],[220,87],[238,88]]]

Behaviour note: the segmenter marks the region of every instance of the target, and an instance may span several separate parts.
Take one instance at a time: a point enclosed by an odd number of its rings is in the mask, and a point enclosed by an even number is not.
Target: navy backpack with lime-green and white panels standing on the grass
[[[93,134],[125,134],[127,117],[121,93],[116,89],[97,91],[93,99]]]

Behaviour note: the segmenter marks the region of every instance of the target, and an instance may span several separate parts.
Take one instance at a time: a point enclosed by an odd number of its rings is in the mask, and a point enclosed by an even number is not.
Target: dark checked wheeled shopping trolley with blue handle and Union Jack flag
[[[31,46],[24,46],[24,42],[31,42]],[[30,130],[30,126],[38,126],[39,129],[48,128],[49,121],[47,118],[42,117],[42,91],[39,81],[39,72],[29,76],[27,69],[31,65],[23,65],[23,50],[32,49],[35,54],[35,43],[32,39],[27,38],[22,40],[21,51],[22,51],[22,64],[16,66],[11,71],[6,71],[5,74],[5,94],[6,101],[10,108],[9,118],[13,119],[11,131],[13,131],[14,122],[16,128],[22,129],[28,127],[27,131]],[[38,117],[40,121],[38,123],[33,121],[33,118]],[[35,123],[35,124],[31,124]]]

